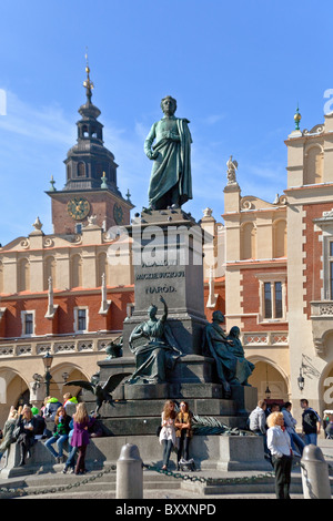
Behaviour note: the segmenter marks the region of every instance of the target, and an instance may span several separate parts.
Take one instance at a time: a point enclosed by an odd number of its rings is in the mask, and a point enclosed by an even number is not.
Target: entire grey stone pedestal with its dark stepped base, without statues
[[[112,394],[112,405],[103,403],[100,413],[110,436],[145,437],[155,435],[167,399],[189,402],[199,417],[214,417],[229,428],[245,427],[256,407],[256,389],[232,386],[225,399],[216,378],[215,361],[203,354],[203,333],[208,321],[203,300],[203,235],[195,221],[181,210],[142,212],[129,228],[133,238],[135,309],[123,324],[123,356],[99,361],[100,380],[118,372],[133,374],[135,357],[129,347],[133,328],[147,323],[148,309],[158,307],[160,297],[168,306],[168,326],[182,356],[167,381],[149,384],[125,380]],[[141,339],[141,338],[140,338]],[[137,340],[135,340],[137,341]],[[142,345],[149,339],[142,336]],[[94,397],[83,392],[93,409]],[[201,437],[202,438],[202,437]],[[135,440],[133,441],[134,443]]]

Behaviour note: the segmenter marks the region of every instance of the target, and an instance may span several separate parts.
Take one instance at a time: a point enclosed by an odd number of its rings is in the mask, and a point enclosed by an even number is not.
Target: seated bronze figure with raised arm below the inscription
[[[135,355],[135,371],[127,384],[164,384],[182,356],[167,321],[167,303],[162,296],[160,300],[164,306],[162,317],[157,317],[158,307],[151,305],[149,319],[134,327],[130,335],[129,346]]]

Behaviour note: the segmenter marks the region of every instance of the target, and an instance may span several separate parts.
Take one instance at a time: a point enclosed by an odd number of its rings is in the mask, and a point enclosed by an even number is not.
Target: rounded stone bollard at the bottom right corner
[[[329,466],[319,447],[304,447],[301,469],[304,499],[331,499]]]

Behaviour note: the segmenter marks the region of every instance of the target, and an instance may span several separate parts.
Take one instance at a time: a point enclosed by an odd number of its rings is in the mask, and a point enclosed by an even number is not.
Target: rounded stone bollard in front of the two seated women
[[[127,443],[117,461],[117,499],[143,499],[143,467],[139,449]]]

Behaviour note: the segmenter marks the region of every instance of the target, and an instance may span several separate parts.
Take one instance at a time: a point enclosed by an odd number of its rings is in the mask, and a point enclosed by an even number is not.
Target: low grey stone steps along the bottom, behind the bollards
[[[1,483],[2,499],[6,498],[59,498],[68,496],[77,496],[78,498],[89,494],[108,494],[109,498],[115,498],[115,471],[104,473],[101,478],[97,478],[94,481],[89,481],[99,474],[99,471],[88,472],[85,476],[74,474],[62,474],[60,467],[58,472],[52,474],[39,474],[39,476],[26,476],[22,479],[12,479]],[[58,470],[58,469],[57,469]],[[185,472],[183,473],[186,474]],[[201,478],[202,472],[191,472],[186,476],[195,476]],[[214,473],[213,473],[214,474]],[[208,476],[208,472],[204,473]],[[218,476],[215,476],[218,478]],[[220,474],[221,478],[225,478],[225,474]],[[275,483],[273,477],[261,477],[256,479],[255,473],[229,473],[230,482],[225,484],[206,484],[199,481],[190,481],[184,479],[175,479],[172,476],[158,473],[151,470],[143,471],[143,490],[144,497],[149,497],[151,492],[155,492],[157,498],[163,498],[175,492],[183,494],[183,497],[198,499],[198,498],[235,498],[235,497],[252,497],[255,499],[256,496],[274,497]],[[244,482],[233,481],[233,478],[238,480],[243,478]],[[331,480],[331,490],[333,492],[333,479]],[[80,483],[80,484],[79,484]],[[10,492],[3,492],[3,487],[10,489]],[[61,489],[61,490],[59,490]],[[291,481],[291,494],[302,496],[302,478],[300,471],[295,470],[292,472]],[[29,496],[24,496],[29,494]]]

